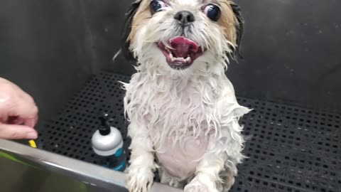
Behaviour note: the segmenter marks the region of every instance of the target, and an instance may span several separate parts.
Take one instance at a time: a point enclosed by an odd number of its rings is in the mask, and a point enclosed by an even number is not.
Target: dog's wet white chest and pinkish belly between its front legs
[[[136,93],[132,112],[146,124],[158,163],[180,181],[193,176],[210,142],[207,127],[214,119],[215,90],[205,82],[187,82],[160,91],[146,82]]]

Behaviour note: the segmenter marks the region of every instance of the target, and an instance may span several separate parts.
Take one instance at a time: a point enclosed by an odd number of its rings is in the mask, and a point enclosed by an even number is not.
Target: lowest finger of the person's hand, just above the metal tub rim
[[[18,124],[0,124],[0,139],[37,139],[36,129]]]

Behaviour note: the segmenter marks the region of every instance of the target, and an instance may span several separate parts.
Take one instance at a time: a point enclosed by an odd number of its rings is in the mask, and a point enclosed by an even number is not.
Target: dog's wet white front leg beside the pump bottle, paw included
[[[153,144],[143,124],[131,122],[128,134],[131,137],[131,157],[126,188],[129,192],[148,192],[153,183],[153,172],[156,170]]]

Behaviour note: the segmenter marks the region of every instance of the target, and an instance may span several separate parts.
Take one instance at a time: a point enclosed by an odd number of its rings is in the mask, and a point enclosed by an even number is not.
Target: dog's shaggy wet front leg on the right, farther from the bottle
[[[227,126],[222,128],[221,139],[217,141],[212,137],[210,140],[209,150],[202,156],[195,177],[185,186],[185,192],[229,191],[234,184],[236,165],[244,157],[241,153],[244,139],[237,119]]]

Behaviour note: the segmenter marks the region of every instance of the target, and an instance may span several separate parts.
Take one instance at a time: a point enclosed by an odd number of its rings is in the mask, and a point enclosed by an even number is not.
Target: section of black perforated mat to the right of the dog
[[[233,191],[341,191],[340,115],[239,99],[255,110]]]

